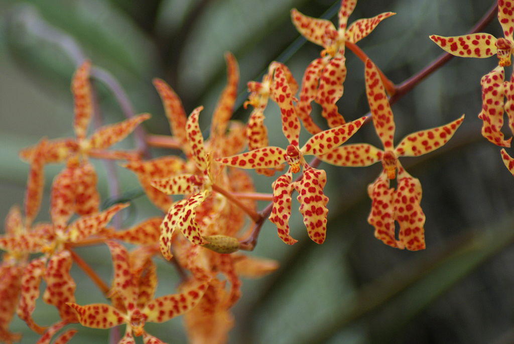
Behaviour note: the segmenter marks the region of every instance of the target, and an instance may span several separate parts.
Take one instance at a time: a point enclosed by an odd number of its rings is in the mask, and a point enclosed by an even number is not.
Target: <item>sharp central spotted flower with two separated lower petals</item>
[[[311,137],[302,148],[299,147],[300,121],[293,106],[293,96],[282,68],[275,70],[273,77],[272,99],[281,110],[282,132],[289,141],[286,149],[280,147],[264,147],[247,153],[216,159],[227,166],[243,169],[276,168],[287,162],[289,169],[273,183],[273,210],[270,221],[277,225],[279,237],[286,244],[296,242],[289,236],[288,219],[291,209],[292,189],[299,192],[300,212],[307,227],[309,237],[316,243],[323,243],[326,231],[325,207],[328,197],[323,194],[326,183],[325,171],[308,166],[305,155],[320,156],[340,146],[350,138],[362,125],[364,118],[357,119],[336,128],[326,130]],[[303,169],[303,177],[299,182],[292,182],[292,173]]]

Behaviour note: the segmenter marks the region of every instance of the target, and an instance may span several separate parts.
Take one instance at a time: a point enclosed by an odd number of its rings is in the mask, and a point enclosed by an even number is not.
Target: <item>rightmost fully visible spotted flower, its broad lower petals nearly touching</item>
[[[382,173],[368,187],[372,210],[368,222],[375,227],[375,237],[384,243],[409,250],[425,248],[425,215],[419,205],[421,185],[401,166],[398,157],[418,156],[443,146],[461,125],[464,115],[438,128],[419,131],[403,138],[393,146],[395,123],[386,92],[375,65],[368,60],[365,66],[366,95],[373,124],[383,150],[368,143],[348,144],[332,150],[321,160],[337,166],[370,166],[382,162]],[[396,177],[396,171],[398,176]],[[389,180],[397,179],[397,187],[389,188]],[[400,229],[395,239],[395,224]]]

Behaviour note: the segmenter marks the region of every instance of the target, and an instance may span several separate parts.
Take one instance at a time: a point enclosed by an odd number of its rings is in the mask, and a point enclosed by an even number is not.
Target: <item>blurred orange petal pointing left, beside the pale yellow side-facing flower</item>
[[[134,245],[151,245],[156,244],[160,236],[160,224],[162,218],[155,216],[145,220],[136,226],[126,229],[109,232],[109,239],[118,239]]]

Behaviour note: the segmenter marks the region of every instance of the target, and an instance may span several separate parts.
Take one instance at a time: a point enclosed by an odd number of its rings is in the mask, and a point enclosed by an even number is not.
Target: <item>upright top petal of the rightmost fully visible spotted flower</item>
[[[371,62],[366,61],[365,67],[365,82],[366,82],[366,96],[368,96],[368,103],[373,116],[373,125],[377,132],[378,137],[382,141],[384,149],[393,148],[393,137],[395,124],[393,119],[393,112],[389,105],[389,100],[386,96],[386,91],[377,67]]]

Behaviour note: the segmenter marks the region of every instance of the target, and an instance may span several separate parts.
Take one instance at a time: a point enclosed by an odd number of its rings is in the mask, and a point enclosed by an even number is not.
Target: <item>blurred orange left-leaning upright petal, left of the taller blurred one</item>
[[[170,123],[171,133],[182,144],[182,150],[188,155],[189,148],[186,135],[187,115],[182,106],[182,102],[174,90],[163,80],[153,79],[153,83],[161,97],[164,112]]]

